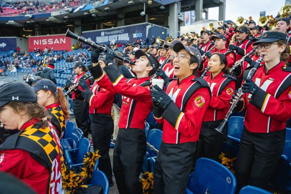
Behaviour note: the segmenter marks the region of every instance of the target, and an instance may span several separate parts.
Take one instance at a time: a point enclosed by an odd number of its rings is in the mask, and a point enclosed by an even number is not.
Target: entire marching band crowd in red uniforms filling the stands
[[[278,17],[272,30],[271,22],[264,26],[253,20],[220,24],[217,29],[203,28],[163,44],[153,41],[149,47],[129,43],[122,52],[115,43],[105,52],[89,48],[88,68],[85,53],[68,56],[66,60],[75,62],[76,76],[67,81],[65,90],[72,90],[76,124],[83,137],[91,130],[93,149],[101,156],[98,169],[106,174],[109,185],[113,186],[114,175],[120,194],[143,193],[139,177],[146,154],[144,129],[152,112],[156,127],[162,130],[153,193],[184,194],[197,159],[218,161],[227,138],[226,115],[236,103],[231,112],[244,115],[235,163],[236,193],[245,185],[272,191],[267,183],[282,155],[286,122],[291,118],[290,23],[290,18]],[[32,88],[23,82],[0,86],[4,131],[0,153],[3,161],[16,155],[13,162],[0,161],[0,170],[38,193],[61,193],[60,187],[48,183],[61,182],[54,175],[61,172],[59,139],[68,110],[63,90],[50,76],[54,57],[44,60],[48,61],[41,64],[47,64],[48,73]],[[88,79],[87,71],[94,79]],[[50,137],[45,143],[53,149],[39,143],[48,139],[44,135]]]

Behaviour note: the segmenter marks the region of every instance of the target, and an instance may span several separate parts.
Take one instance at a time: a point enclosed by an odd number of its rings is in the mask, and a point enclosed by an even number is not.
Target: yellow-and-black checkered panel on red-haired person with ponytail
[[[65,131],[65,116],[60,106],[49,109],[51,122],[58,128],[59,134]]]

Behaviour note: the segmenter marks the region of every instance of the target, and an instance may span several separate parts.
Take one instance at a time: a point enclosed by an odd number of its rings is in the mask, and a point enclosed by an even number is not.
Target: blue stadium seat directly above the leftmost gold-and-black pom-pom
[[[90,151],[90,141],[88,138],[80,140],[79,147],[65,150],[65,160],[70,168],[81,167],[83,165],[84,156]]]

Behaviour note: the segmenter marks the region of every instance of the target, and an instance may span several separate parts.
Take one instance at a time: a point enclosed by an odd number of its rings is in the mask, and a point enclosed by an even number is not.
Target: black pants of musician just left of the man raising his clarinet
[[[98,168],[104,172],[109,180],[112,180],[112,167],[109,157],[111,135],[113,134],[113,120],[110,114],[95,113],[91,115],[91,134],[94,151],[99,150]]]

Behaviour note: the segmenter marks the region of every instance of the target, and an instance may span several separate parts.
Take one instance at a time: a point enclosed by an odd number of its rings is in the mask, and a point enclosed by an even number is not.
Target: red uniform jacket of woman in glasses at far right
[[[252,80],[260,89],[255,96],[243,95],[246,129],[258,133],[285,129],[291,117],[291,67],[281,61],[266,72],[261,65]]]

